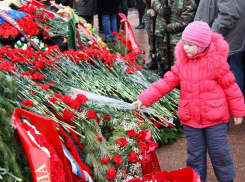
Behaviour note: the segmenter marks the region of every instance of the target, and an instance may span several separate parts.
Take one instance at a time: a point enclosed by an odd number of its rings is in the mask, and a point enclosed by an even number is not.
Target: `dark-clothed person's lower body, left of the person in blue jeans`
[[[76,0],[73,2],[79,16],[84,18],[87,23],[94,25],[94,15],[97,14],[97,0]]]

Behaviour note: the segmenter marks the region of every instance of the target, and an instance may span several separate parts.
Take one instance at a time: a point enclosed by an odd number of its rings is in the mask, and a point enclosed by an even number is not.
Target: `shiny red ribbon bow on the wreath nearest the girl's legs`
[[[147,150],[142,154],[141,168],[142,174],[150,174],[161,171],[155,149],[158,147],[158,143],[152,141],[152,131],[142,130],[137,137],[138,141],[146,142]]]

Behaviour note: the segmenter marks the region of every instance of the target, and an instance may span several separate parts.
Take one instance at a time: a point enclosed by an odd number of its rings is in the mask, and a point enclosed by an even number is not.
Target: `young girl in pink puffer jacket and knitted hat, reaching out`
[[[149,107],[180,85],[178,117],[187,140],[187,167],[206,180],[208,151],[220,182],[236,176],[227,141],[230,113],[235,125],[245,116],[242,92],[230,72],[229,46],[202,21],[190,23],[175,47],[177,61],[158,82],[138,95],[133,105]]]

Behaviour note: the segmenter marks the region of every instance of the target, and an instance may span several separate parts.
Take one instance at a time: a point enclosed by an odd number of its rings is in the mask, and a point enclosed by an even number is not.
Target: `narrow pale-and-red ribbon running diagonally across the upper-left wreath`
[[[19,24],[15,21],[15,19],[7,12],[2,9],[0,9],[0,17],[2,17],[4,20],[6,20],[9,24],[11,24],[13,27],[17,28],[19,32],[28,40],[35,49],[41,51],[41,49],[38,47],[38,45],[33,42],[30,37],[27,35],[25,30],[23,30]]]

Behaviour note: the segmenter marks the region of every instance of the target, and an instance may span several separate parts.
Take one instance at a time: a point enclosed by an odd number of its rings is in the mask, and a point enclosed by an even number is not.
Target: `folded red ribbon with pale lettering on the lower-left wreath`
[[[71,171],[67,164],[66,157],[61,146],[61,141],[58,136],[54,121],[47,119],[43,116],[37,115],[35,113],[23,110],[15,109],[11,118],[16,125],[19,137],[25,149],[26,156],[31,168],[31,173],[34,182],[39,181],[50,181],[50,161],[49,156],[43,152],[40,148],[34,144],[34,142],[29,138],[27,132],[22,126],[21,117],[24,117],[31,121],[31,123],[36,127],[36,129],[45,137],[45,139],[53,145],[58,157],[62,160],[64,171],[66,173],[67,182],[73,182],[71,177]],[[52,181],[53,182],[53,181]]]

